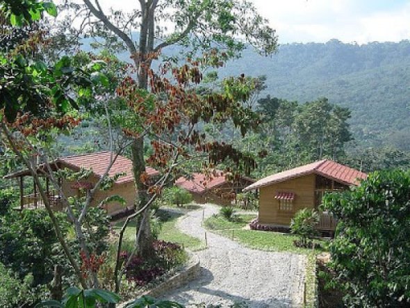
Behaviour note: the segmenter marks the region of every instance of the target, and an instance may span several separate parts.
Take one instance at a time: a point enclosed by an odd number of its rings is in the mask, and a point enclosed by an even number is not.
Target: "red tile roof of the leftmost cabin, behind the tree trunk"
[[[92,169],[97,177],[102,177],[108,164],[110,163],[110,152],[99,152],[99,153],[92,153],[92,154],[83,154],[83,155],[76,155],[76,156],[67,156],[57,159],[57,162],[66,165],[68,168],[73,169]],[[113,157],[115,154],[113,154]],[[159,172],[153,168],[146,167],[145,168],[147,174],[149,176],[156,176],[159,175]],[[124,156],[119,155],[115,160],[115,163],[110,168],[108,175],[113,177],[115,174],[125,172],[126,175],[124,177],[120,177],[115,181],[117,184],[124,184],[133,181],[133,163],[130,159],[127,159]]]

